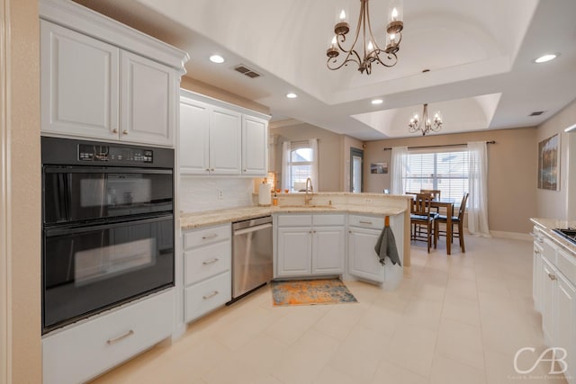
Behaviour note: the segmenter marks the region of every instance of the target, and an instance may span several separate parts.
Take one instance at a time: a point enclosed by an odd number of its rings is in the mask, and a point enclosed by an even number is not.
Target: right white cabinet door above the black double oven
[[[174,69],[121,51],[121,139],[174,145]]]

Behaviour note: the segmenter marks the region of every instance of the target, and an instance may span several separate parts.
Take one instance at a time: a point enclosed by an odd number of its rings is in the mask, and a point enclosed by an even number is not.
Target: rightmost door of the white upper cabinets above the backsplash
[[[268,165],[268,121],[242,117],[242,174],[263,175]]]

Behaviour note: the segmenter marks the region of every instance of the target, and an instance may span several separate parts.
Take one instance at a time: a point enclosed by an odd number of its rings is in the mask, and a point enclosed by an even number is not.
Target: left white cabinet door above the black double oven
[[[42,131],[118,138],[120,49],[41,21]]]

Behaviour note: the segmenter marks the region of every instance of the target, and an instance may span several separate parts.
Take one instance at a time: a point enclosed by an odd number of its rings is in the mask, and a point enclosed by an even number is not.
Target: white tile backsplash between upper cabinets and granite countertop
[[[253,191],[254,182],[250,178],[181,176],[180,210],[202,212],[251,206]]]

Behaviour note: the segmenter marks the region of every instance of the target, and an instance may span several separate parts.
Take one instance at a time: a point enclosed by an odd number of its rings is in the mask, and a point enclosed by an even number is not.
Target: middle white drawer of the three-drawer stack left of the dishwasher
[[[184,252],[184,285],[202,281],[231,266],[232,244],[224,241]]]

